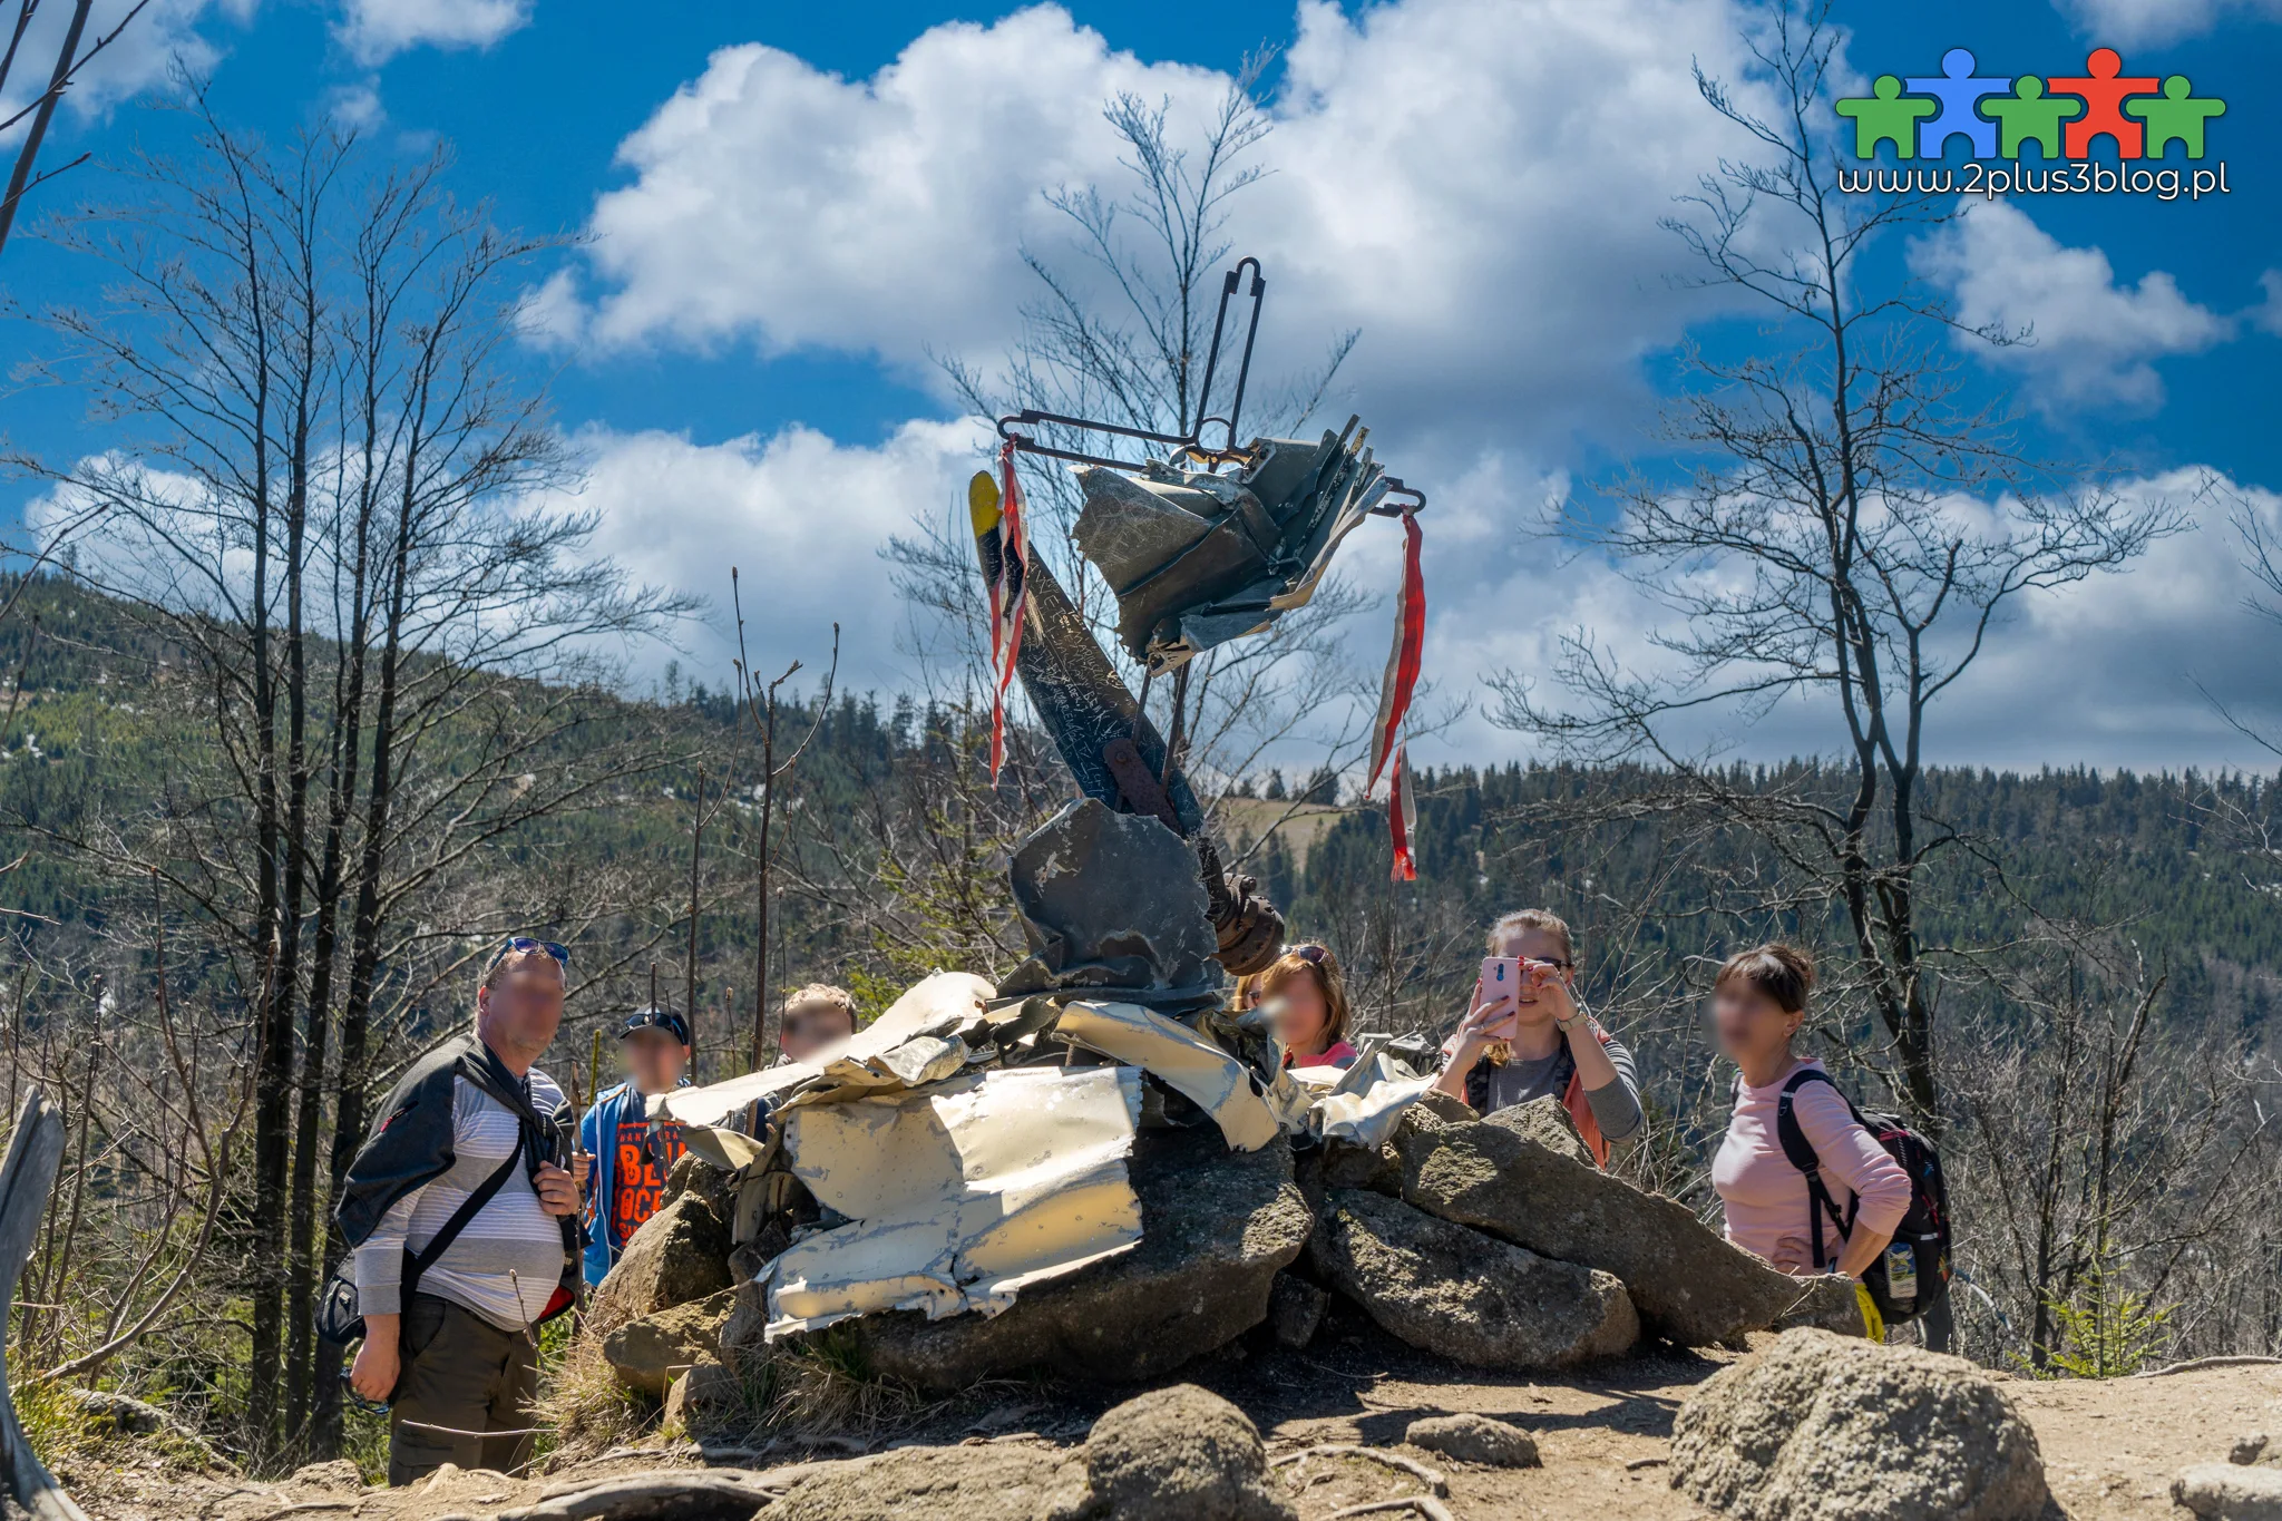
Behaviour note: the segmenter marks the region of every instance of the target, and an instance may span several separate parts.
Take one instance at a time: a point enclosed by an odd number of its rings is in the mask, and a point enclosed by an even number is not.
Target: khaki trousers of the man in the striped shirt
[[[411,1485],[443,1464],[497,1473],[529,1464],[532,1437],[488,1432],[518,1432],[534,1421],[532,1339],[429,1293],[404,1307],[402,1334],[404,1373],[388,1407],[388,1482]]]

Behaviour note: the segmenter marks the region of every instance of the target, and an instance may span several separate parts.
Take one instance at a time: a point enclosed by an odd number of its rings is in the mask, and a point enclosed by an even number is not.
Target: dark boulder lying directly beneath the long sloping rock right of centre
[[[1326,1195],[1312,1256],[1394,1336],[1481,1368],[1568,1368],[1613,1357],[1641,1334],[1611,1275],[1360,1188]]]

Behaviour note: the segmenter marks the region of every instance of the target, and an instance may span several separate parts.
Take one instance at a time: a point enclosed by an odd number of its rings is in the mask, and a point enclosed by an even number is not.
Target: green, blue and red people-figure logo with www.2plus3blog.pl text
[[[2106,139],[2118,160],[2163,160],[2172,155],[2172,144],[2179,157],[2202,160],[2211,119],[2227,112],[2225,100],[2198,96],[2184,73],[2161,80],[2127,75],[2115,48],[2093,48],[2081,75],[2026,73],[2008,80],[1978,75],[1974,68],[1969,48],[1951,48],[1942,55],[1937,75],[1883,73],[1871,82],[1871,93],[1837,100],[1832,109],[1853,121],[1855,157],[1874,160],[1880,146],[1889,146],[1896,160],[1937,160],[1951,139],[1963,137],[1972,160],[2022,160],[2022,151],[2036,144],[2038,157],[2056,166],[2054,173],[2031,178],[1983,169],[1958,176],[1951,187],[1985,189],[1990,178],[1999,178],[1999,189],[2134,189],[2129,169],[2106,169],[2104,178],[2081,173],[2090,169],[2097,141]],[[2198,169],[2191,194],[2227,189],[2223,176],[2225,164],[2216,173]],[[2138,171],[2138,178],[2147,180],[2145,189],[2161,189],[2163,176]],[[2168,178],[2186,187],[2177,169]]]

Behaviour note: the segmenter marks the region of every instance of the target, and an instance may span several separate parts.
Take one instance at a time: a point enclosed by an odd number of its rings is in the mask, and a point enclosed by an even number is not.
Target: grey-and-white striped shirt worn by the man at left
[[[532,1108],[555,1113],[561,1090],[532,1072]],[[356,1247],[356,1304],[377,1316],[404,1309],[404,1254],[420,1252],[461,1204],[516,1149],[516,1113],[463,1076],[452,1079],[452,1165],[388,1206]],[[475,1220],[420,1275],[420,1293],[452,1300],[500,1329],[518,1332],[545,1313],[564,1272],[561,1222],[539,1206],[529,1158],[475,1213]]]

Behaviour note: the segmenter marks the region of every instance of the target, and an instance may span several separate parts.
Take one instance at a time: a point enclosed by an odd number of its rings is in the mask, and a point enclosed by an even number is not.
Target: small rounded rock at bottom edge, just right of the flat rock
[[[1089,1498],[1070,1516],[1116,1521],[1296,1521],[1269,1489],[1251,1416],[1196,1384],[1125,1400],[1086,1437]]]

